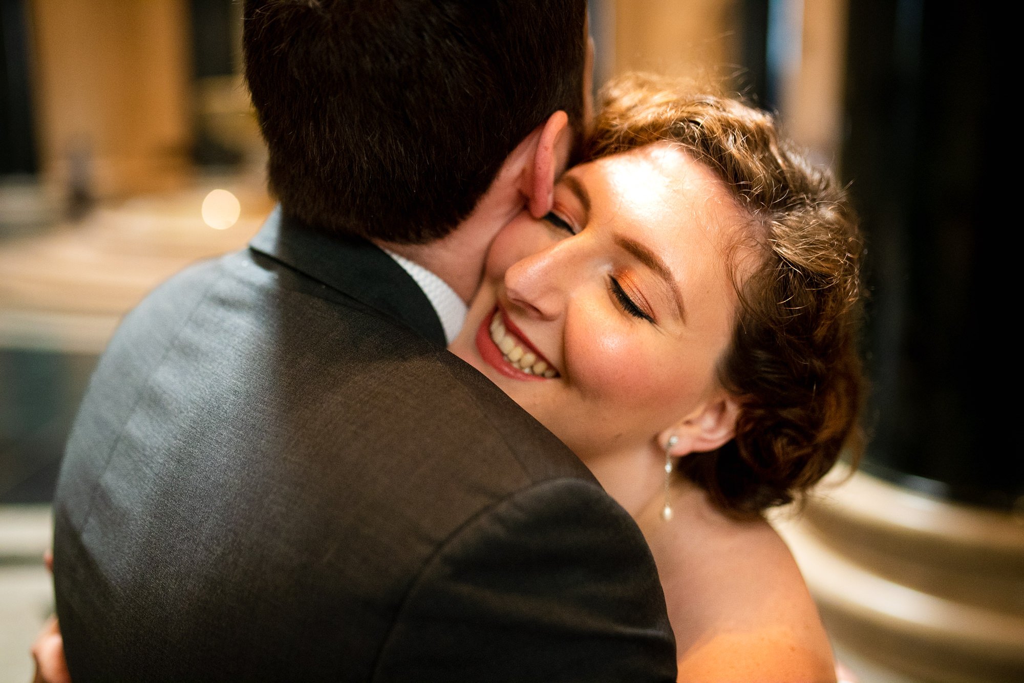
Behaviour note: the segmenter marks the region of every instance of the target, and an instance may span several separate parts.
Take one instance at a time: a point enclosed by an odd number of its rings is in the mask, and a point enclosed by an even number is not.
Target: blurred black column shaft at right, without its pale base
[[[1002,341],[1012,313],[989,308],[1013,267],[990,207],[1014,176],[996,171],[1008,146],[1002,59],[984,7],[851,3],[844,176],[873,289],[864,467],[1010,511],[1024,504],[1024,460],[1006,420],[1016,386],[1000,361],[1019,345]]]

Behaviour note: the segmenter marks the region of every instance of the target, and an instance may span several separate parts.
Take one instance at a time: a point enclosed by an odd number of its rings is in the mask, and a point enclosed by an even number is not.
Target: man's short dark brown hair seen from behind
[[[247,0],[270,187],[312,225],[449,233],[516,145],[583,116],[584,0]]]

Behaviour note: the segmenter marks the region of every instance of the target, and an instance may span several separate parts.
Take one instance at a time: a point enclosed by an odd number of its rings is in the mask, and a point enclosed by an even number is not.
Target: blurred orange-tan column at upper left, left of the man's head
[[[99,197],[178,186],[191,114],[184,0],[34,0],[47,181]]]

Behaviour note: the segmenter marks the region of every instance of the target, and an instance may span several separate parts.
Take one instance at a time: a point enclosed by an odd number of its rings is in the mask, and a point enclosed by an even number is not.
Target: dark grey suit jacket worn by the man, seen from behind
[[[675,680],[632,519],[392,259],[280,214],[128,314],[54,513],[76,683]]]

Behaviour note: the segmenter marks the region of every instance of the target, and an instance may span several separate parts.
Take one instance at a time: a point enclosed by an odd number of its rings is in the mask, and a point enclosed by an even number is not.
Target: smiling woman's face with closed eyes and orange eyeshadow
[[[577,166],[548,217],[524,211],[498,234],[452,350],[585,461],[649,447],[724,393],[726,255],[746,220],[668,143]]]

